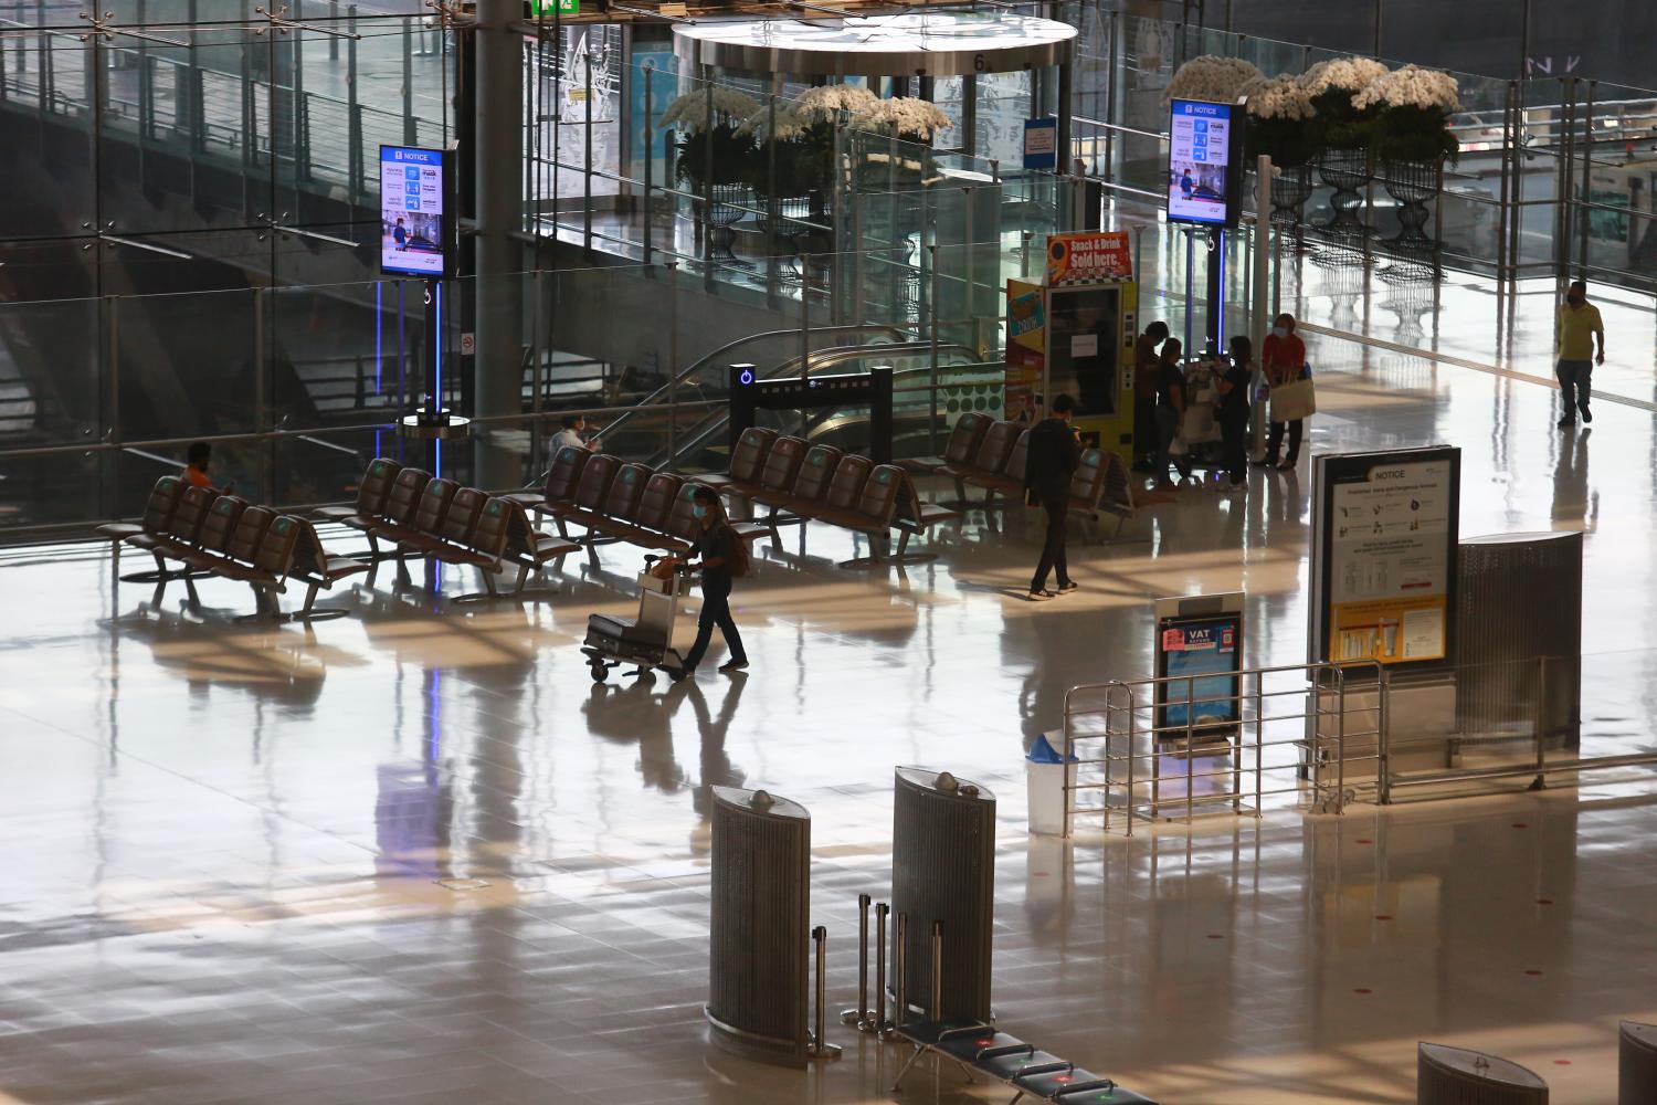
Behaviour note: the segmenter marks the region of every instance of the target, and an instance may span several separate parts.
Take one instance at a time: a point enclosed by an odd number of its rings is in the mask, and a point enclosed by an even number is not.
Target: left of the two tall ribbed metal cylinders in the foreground
[[[714,1044],[805,1065],[812,818],[764,790],[714,787],[708,1007]]]

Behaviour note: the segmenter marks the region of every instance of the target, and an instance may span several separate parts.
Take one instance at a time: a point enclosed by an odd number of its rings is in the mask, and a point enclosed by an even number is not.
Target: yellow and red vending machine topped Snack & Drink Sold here
[[[1046,282],[1007,282],[1007,417],[1036,421],[1067,394],[1082,442],[1132,464],[1137,335],[1128,235],[1049,235]]]

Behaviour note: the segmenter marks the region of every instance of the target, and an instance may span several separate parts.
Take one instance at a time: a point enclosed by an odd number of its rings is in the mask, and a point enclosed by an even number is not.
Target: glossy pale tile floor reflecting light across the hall
[[[1312,449],[1452,441],[1463,533],[1587,530],[1587,744],[1649,747],[1650,414],[1606,401],[1568,437],[1533,383],[1317,355]],[[714,784],[812,810],[838,1009],[855,898],[888,886],[895,764],[1001,799],[994,1001],[1024,1039],[1170,1105],[1408,1102],[1418,1039],[1526,1064],[1556,1102],[1616,1100],[1617,1017],[1657,1019],[1645,772],[1026,833],[1024,742],[1065,688],[1145,673],[1152,598],[1246,588],[1249,659],[1304,654],[1306,466],[1251,480],[1077,548],[1085,590],[1044,606],[1004,595],[1034,552],[1021,519],[969,517],[935,563],[873,575],[814,527],[741,586],[754,669],[674,688],[593,688],[575,651],[588,613],[631,606],[621,550],[540,605],[383,578],[313,633],[229,625],[249,596],[227,583],[194,616],[144,610],[91,552],[8,555],[0,1102],[885,1100],[900,1049],[845,1029],[820,1072],[708,1047],[706,818]]]

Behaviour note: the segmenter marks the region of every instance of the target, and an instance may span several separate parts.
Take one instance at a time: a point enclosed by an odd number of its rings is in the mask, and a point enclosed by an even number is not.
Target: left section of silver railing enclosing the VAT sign
[[[1354,794],[1349,774],[1370,782],[1385,749],[1387,696],[1375,661],[1253,668],[1234,691],[1205,694],[1205,676],[1163,676],[1070,688],[1064,696],[1064,835],[1077,818],[1105,832],[1137,822],[1190,822],[1203,813],[1259,817],[1273,797],[1309,799],[1339,813]],[[1210,683],[1211,686],[1211,683]],[[1165,724],[1167,704],[1188,704]],[[1205,727],[1203,707],[1238,722]]]

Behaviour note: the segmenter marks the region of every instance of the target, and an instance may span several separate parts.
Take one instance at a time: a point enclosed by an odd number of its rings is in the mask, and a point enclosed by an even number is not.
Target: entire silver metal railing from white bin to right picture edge
[[[1455,707],[1394,732],[1400,684],[1375,661],[1253,668],[1070,688],[1064,699],[1064,835],[1079,818],[1190,823],[1355,800],[1461,799],[1543,790],[1556,777],[1657,765],[1657,750],[1584,755],[1569,658],[1453,668]],[[1495,688],[1495,692],[1493,692]],[[1206,721],[1205,721],[1206,717]],[[1642,775],[1650,782],[1650,775]],[[1511,790],[1508,787],[1506,790]]]

